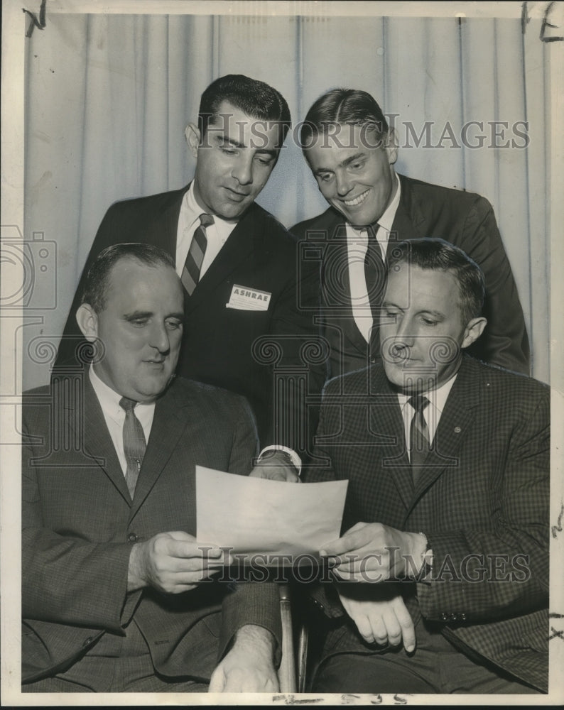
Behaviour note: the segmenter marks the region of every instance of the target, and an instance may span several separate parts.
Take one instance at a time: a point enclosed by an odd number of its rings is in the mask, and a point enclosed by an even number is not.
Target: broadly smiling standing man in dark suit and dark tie
[[[326,212],[295,225],[302,263],[322,268],[323,334],[330,376],[379,357],[378,315],[386,261],[398,241],[440,237],[484,272],[488,328],[472,354],[529,373],[528,339],[516,285],[491,205],[471,192],[396,175],[398,148],[374,98],[333,89],[310,108],[300,140]]]

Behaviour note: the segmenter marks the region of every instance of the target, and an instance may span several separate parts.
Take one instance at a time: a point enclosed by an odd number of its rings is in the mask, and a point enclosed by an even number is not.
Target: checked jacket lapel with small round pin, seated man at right
[[[479,373],[472,359],[465,357],[458,371],[452,390],[433,442],[433,450],[425,459],[415,491],[413,503],[443,474],[456,475],[460,471],[458,452],[465,439],[479,405]]]

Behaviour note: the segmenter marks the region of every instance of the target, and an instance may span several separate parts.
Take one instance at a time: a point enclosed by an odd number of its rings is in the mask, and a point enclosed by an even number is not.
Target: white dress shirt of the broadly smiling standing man
[[[378,220],[378,231],[376,231],[376,241],[380,245],[382,259],[386,260],[386,249],[394,224],[394,218],[399,204],[401,187],[398,176],[394,168],[391,168],[392,177],[395,181],[395,192],[391,202],[384,210],[384,214]],[[364,274],[364,258],[368,249],[368,231],[356,229],[347,222],[347,252],[349,262],[349,282],[351,290],[352,315],[359,331],[364,336],[367,343],[370,342],[370,330],[372,329],[372,310],[368,298],[367,279]]]

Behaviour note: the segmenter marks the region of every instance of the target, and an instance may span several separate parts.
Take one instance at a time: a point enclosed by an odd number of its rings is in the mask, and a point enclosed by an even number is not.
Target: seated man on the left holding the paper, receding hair
[[[174,262],[104,250],[77,322],[104,356],[23,398],[23,691],[276,690],[276,586],[221,583],[194,537],[196,464],[248,474],[257,438],[239,395],[174,378]]]

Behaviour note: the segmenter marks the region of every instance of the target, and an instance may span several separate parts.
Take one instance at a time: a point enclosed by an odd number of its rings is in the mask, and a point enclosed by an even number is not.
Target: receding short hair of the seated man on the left
[[[107,246],[90,264],[86,274],[82,303],[88,303],[94,312],[100,313],[106,307],[109,277],[118,261],[134,259],[146,266],[170,266],[175,268],[174,260],[166,251],[152,244],[114,244]]]

